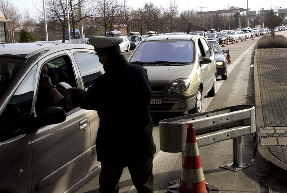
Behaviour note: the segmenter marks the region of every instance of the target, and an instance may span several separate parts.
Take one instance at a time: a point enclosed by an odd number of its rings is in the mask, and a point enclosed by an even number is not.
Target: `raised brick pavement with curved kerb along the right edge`
[[[256,49],[254,88],[256,160],[270,177],[287,183],[287,48]]]

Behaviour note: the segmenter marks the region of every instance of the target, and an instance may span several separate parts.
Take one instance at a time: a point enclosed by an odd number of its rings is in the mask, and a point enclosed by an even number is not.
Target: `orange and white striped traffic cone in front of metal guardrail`
[[[193,123],[188,123],[180,193],[207,193]]]

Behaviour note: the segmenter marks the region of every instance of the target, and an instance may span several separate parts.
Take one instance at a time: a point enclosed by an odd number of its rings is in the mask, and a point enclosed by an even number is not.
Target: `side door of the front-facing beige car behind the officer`
[[[202,96],[205,96],[207,92],[212,88],[214,83],[214,77],[216,73],[216,65],[214,61],[214,54],[210,47],[208,46],[208,42],[204,38],[200,38],[198,40],[198,47],[201,52],[201,55],[204,57],[209,57],[212,59],[211,63],[201,64],[201,73],[202,73],[202,82],[203,82],[203,91]]]

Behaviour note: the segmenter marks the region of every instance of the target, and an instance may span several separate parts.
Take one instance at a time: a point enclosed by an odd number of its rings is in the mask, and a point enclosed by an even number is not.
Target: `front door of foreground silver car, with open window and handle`
[[[68,84],[82,85],[74,71],[72,57],[68,50],[51,54],[38,62],[37,74],[44,64],[58,65],[54,61],[62,61],[58,67],[64,69],[65,65],[70,78]],[[31,133],[33,193],[62,193],[88,175],[89,159],[95,156],[95,149],[91,147],[90,113],[74,104],[64,122],[46,125]]]

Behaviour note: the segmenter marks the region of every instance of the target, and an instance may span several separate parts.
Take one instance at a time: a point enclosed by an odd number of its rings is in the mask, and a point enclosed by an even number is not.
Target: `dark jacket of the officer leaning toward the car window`
[[[104,70],[87,92],[76,89],[72,93],[81,101],[81,108],[98,111],[98,160],[127,163],[150,158],[156,148],[147,70],[129,64],[123,55],[110,59]]]

